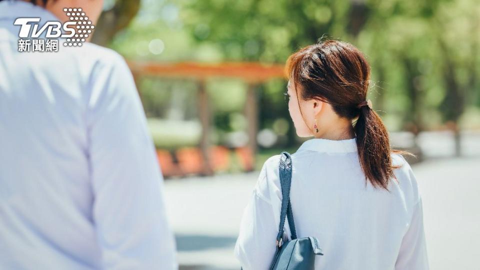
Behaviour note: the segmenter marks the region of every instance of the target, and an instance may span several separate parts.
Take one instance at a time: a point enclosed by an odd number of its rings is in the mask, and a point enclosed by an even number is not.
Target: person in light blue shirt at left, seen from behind
[[[132,75],[88,42],[18,52],[17,17],[101,0],[0,1],[0,269],[176,269]]]

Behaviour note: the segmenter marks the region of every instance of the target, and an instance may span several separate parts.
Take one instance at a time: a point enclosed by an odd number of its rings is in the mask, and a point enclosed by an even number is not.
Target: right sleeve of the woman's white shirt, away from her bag
[[[423,210],[420,200],[413,208],[410,226],[403,236],[395,263],[395,270],[428,270]]]

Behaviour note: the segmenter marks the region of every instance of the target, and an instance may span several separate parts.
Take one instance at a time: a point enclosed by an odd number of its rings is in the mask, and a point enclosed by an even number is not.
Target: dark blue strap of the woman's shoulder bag
[[[276,236],[276,245],[281,246],[283,241],[283,232],[285,225],[285,218],[287,217],[288,225],[290,227],[291,239],[296,239],[295,223],[293,221],[293,213],[291,211],[290,203],[290,186],[291,186],[291,156],[288,152],[282,152],[280,156],[280,163],[278,166],[280,174],[280,186],[281,186],[281,210],[280,210],[280,225],[278,228],[278,234]]]

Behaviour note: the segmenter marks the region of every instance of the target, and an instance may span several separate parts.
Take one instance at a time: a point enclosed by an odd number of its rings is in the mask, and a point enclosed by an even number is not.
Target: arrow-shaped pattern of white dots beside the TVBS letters
[[[78,46],[80,47],[86,38],[91,34],[95,25],[91,24],[91,20],[88,19],[85,12],[81,8],[63,8],[63,11],[68,16],[70,21],[76,22],[75,34],[66,39],[63,46]]]

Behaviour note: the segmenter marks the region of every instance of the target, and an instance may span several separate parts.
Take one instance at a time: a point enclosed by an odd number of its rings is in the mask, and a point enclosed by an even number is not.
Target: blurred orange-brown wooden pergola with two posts
[[[263,64],[259,62],[225,62],[225,63],[159,63],[127,61],[135,81],[142,76],[193,79],[197,82],[198,117],[202,131],[200,150],[204,160],[209,158],[209,126],[211,111],[209,110],[208,96],[205,81],[209,78],[235,78],[248,84],[244,106],[245,117],[248,121],[248,145],[252,153],[257,150],[256,134],[258,132],[258,100],[255,88],[272,78],[284,77],[284,66],[281,64]],[[213,170],[205,162],[205,174],[212,174]]]

